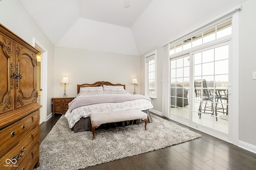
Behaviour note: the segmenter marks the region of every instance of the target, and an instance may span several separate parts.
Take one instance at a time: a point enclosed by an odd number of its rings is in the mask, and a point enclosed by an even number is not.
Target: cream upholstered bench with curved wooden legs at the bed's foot
[[[128,121],[142,119],[145,121],[145,130],[147,130],[148,114],[140,110],[123,110],[123,111],[110,111],[104,113],[94,113],[91,115],[92,124],[92,140],[95,138],[95,129],[104,123],[113,123],[119,121]]]

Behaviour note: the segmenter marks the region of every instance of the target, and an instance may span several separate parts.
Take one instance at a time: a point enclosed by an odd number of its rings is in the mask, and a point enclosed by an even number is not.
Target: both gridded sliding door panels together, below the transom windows
[[[228,138],[229,43],[170,59],[169,117]]]

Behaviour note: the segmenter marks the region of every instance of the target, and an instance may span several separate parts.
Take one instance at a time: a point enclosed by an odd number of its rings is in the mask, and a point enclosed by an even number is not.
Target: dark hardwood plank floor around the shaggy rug
[[[54,115],[40,125],[40,143],[60,116]],[[256,170],[256,154],[195,129],[186,128],[200,133],[202,137],[85,170]]]

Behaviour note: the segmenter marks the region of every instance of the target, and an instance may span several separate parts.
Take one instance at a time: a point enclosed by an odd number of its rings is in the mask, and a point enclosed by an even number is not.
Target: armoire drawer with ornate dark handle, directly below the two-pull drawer
[[[36,145],[39,145],[39,127],[36,127],[18,145],[0,158],[0,167],[17,168],[27,156],[30,156],[31,149]]]

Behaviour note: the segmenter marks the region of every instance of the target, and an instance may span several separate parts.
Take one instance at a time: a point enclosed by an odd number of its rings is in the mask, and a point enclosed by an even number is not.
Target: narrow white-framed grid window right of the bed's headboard
[[[145,95],[156,98],[156,50],[145,55]]]

